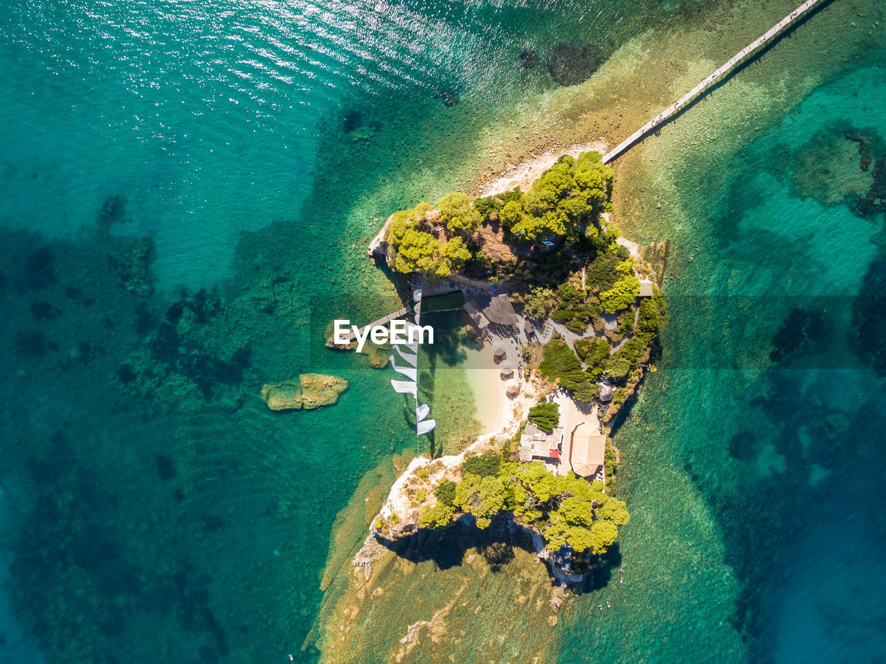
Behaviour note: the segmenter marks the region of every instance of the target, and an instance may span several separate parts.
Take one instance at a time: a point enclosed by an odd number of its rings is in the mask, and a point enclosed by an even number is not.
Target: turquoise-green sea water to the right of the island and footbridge
[[[859,316],[882,310],[886,220],[851,210],[846,132],[886,156],[884,63],[822,85],[726,170],[668,167],[671,324],[615,437],[624,582],[577,612],[561,661],[882,657],[883,337]],[[809,323],[782,328],[796,309]]]

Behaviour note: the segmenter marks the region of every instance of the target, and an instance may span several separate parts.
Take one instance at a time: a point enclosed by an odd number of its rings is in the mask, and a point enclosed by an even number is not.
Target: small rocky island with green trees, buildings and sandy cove
[[[412,310],[463,310],[493,350],[507,412],[460,454],[412,460],[354,559],[356,582],[409,538],[456,525],[524,531],[561,588],[616,542],[629,514],[609,434],[667,323],[667,246],[620,237],[614,176],[599,152],[566,154],[529,191],[399,210],[370,244],[421,289]]]

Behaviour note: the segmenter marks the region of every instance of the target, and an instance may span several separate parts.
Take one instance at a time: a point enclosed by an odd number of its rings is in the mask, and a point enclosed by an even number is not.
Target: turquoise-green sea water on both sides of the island
[[[4,5],[0,661],[315,660],[333,521],[415,444],[390,375],[320,342],[393,301],[366,240],[556,87],[525,48],[614,51],[691,6]],[[671,167],[672,324],[616,437],[625,582],[563,617],[563,662],[883,652],[886,404],[859,319],[883,294],[883,215],[851,213],[870,177],[845,137],[886,158],[883,63],[739,160]],[[795,308],[811,323],[773,364]],[[309,413],[260,402],[304,371],[351,388]]]

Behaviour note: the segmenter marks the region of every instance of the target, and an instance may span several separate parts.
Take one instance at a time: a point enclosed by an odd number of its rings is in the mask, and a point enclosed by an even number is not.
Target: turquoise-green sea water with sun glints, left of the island
[[[315,659],[333,520],[415,444],[323,327],[392,306],[369,236],[554,86],[520,51],[667,19],[621,6],[4,4],[0,660]],[[269,412],[302,371],[351,388]]]

